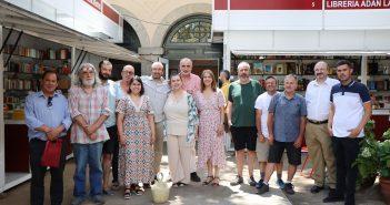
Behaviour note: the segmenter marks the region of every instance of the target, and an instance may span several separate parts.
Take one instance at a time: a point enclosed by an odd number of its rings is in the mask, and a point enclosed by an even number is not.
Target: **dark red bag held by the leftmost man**
[[[59,167],[62,151],[62,139],[47,141],[44,152],[41,157],[42,166]]]

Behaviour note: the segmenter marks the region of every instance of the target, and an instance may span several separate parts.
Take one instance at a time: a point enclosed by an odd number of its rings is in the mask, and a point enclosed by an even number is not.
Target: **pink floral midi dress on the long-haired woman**
[[[211,96],[197,92],[194,95],[199,111],[198,167],[207,167],[210,160],[213,166],[226,164],[224,137],[218,136],[217,129],[221,122],[220,109],[224,106],[223,93],[217,90]]]

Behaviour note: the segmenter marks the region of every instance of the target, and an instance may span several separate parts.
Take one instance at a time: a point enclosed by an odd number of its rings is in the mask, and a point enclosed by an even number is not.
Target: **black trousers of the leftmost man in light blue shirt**
[[[44,201],[44,175],[47,167],[41,166],[41,157],[46,147],[46,141],[33,139],[30,141],[30,168],[31,168],[31,187],[30,204],[43,205]],[[60,166],[50,168],[50,201],[52,205],[59,205],[63,198],[63,168],[66,162],[66,143],[62,143]]]

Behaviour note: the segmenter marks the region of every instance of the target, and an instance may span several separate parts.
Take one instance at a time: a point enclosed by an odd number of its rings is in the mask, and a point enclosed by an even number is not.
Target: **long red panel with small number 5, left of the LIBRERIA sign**
[[[214,10],[227,10],[228,0],[214,0]],[[322,10],[322,0],[230,0],[230,10]]]

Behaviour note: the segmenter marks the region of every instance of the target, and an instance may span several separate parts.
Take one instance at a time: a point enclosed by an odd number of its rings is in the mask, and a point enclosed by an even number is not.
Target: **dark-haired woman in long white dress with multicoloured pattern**
[[[130,81],[129,95],[117,106],[119,148],[119,182],[124,184],[124,198],[141,195],[138,183],[153,180],[154,122],[149,98],[143,95],[139,76]]]

